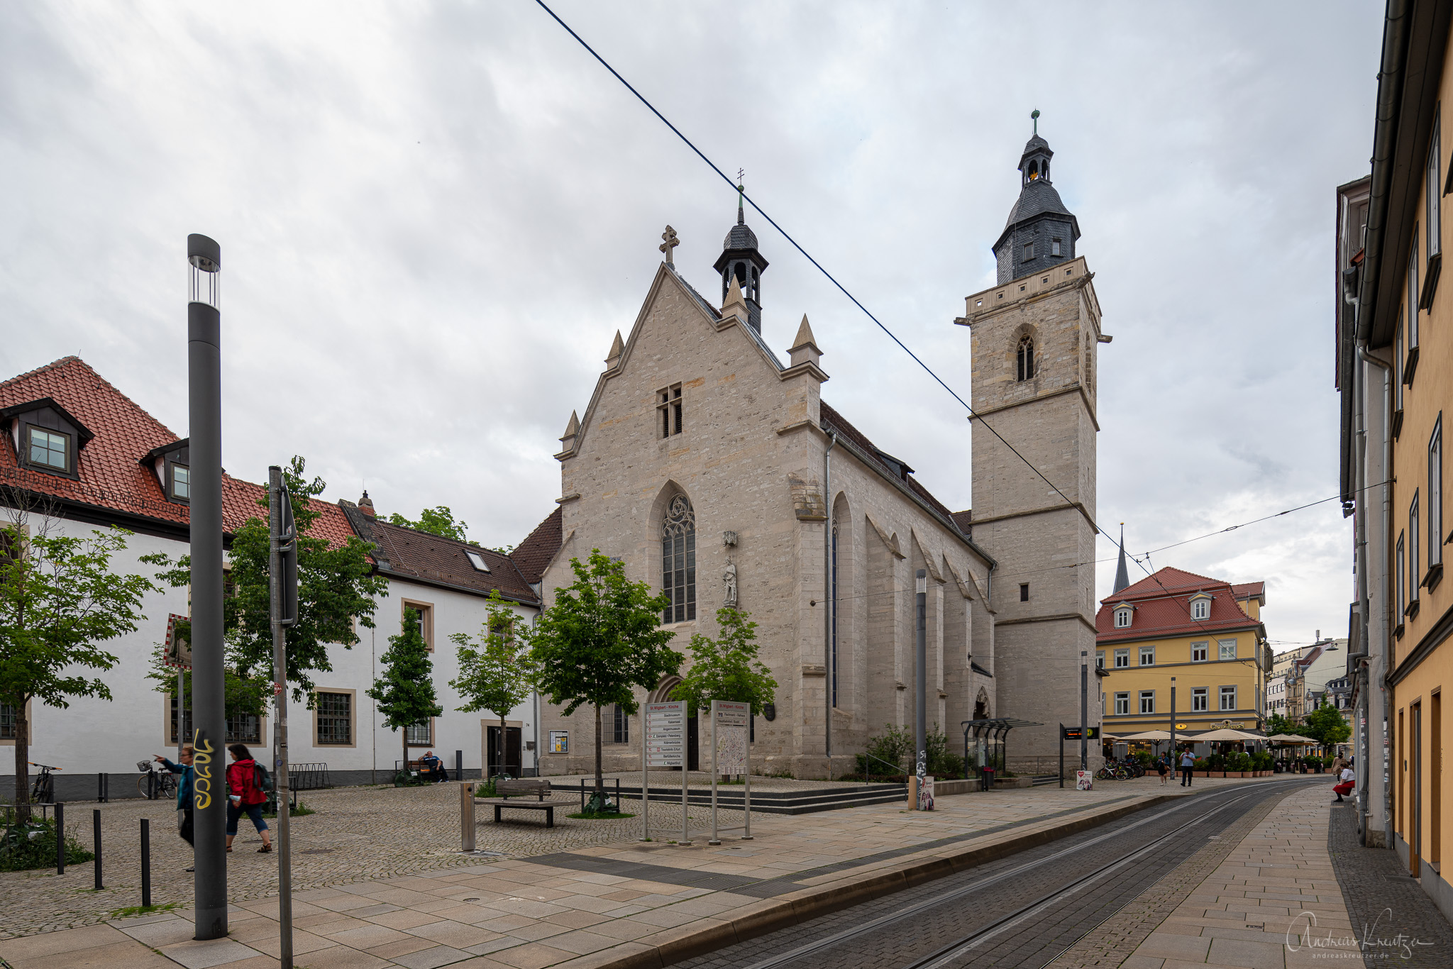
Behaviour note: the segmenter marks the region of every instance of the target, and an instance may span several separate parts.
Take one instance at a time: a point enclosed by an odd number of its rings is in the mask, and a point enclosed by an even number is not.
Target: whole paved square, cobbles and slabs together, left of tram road
[[[1197,786],[1194,793],[1263,783],[1267,780],[1213,782]],[[1067,821],[1133,808],[1154,796],[1186,793],[1174,786],[1159,787],[1155,779],[1142,779],[1103,784],[1093,792],[1036,787],[946,796],[933,814],[908,812],[894,803],[796,816],[763,815],[753,821],[756,841],[740,841],[735,840],[740,832],[724,831],[724,844],[718,847],[708,847],[700,837],[690,846],[639,844],[634,840],[639,831],[635,818],[552,831],[535,819],[501,825],[495,835],[507,837],[494,841],[494,847],[513,847],[510,856],[479,863],[449,854],[458,837],[458,787],[334,790],[327,792],[327,798],[309,796],[323,812],[299,819],[295,827],[299,840],[311,838],[307,844],[346,843],[353,860],[340,863],[331,854],[298,856],[302,866],[312,861],[328,866],[307,869],[307,885],[315,888],[301,888],[295,893],[298,965],[312,969],[394,965],[430,969],[474,957],[471,966],[477,969],[542,969],[559,963],[587,969],[602,960],[639,953],[657,957],[657,953],[668,952],[683,940],[689,943],[700,937],[702,931],[724,925],[734,931],[737,920],[750,923],[754,912],[764,911],[763,907],[788,905],[790,911],[799,904],[793,899],[827,898],[865,877],[891,879],[905,866],[939,864],[942,859],[965,850],[1036,837],[1039,831],[1062,828]],[[628,800],[626,808],[631,806]],[[137,811],[135,805],[128,808]],[[657,815],[657,808],[661,815]],[[170,806],[153,805],[151,809],[154,816],[170,824]],[[73,821],[76,814],[73,811]],[[705,824],[706,814],[706,809],[692,806],[697,822]],[[122,818],[122,828],[134,830],[137,816]],[[328,825],[315,825],[311,835],[304,834],[305,822],[330,818]],[[652,818],[655,830],[664,831],[680,818],[680,806],[670,802],[652,805]],[[623,827],[607,831],[604,825]],[[1005,830],[1008,825],[1017,827],[1010,831]],[[493,828],[488,821],[479,824],[481,847],[491,846]],[[362,837],[340,841],[328,834],[330,830]],[[979,837],[960,840],[960,835],[974,832]],[[246,872],[244,866],[262,863],[266,867],[276,857],[247,851],[256,846],[253,838],[251,834],[240,838],[243,853],[231,857],[234,876]],[[532,840],[511,841],[519,838]],[[593,846],[587,843],[591,838],[613,843]],[[161,841],[161,837],[157,840]],[[308,850],[307,844],[299,847]],[[580,859],[645,863],[648,867],[642,866],[644,870],[663,880],[593,872],[590,864],[580,867]],[[186,856],[177,850],[174,869],[183,867],[185,861]],[[110,866],[108,861],[108,870],[112,870]],[[395,876],[371,875],[371,870],[391,872],[405,866],[416,870]],[[73,875],[77,872],[62,877],[42,873],[0,877],[0,892],[9,893],[0,896],[0,911],[20,933],[39,930],[26,928],[10,915],[17,904],[22,909],[60,905],[71,912],[71,918],[94,921],[94,912],[112,904],[97,904],[94,896],[78,905],[67,901],[67,889],[89,885],[90,869],[81,866],[78,877],[73,879]],[[738,888],[722,891],[708,885],[711,879],[731,880]],[[754,898],[740,888],[742,879],[758,885],[789,879],[795,882],[793,893],[785,901]],[[240,886],[238,880],[247,885]],[[173,885],[169,898],[185,896],[185,880],[180,888]],[[55,965],[122,969],[131,965],[118,960],[118,953],[124,952],[164,953],[182,965],[199,968],[276,966],[278,904],[275,898],[260,896],[266,893],[267,877],[234,877],[232,933],[227,940],[189,941],[192,925],[186,911],[180,909],[176,914],[0,940],[0,957],[15,969]],[[135,904],[134,893],[128,892],[124,901]],[[61,952],[77,954],[73,962],[55,962],[54,954]]]

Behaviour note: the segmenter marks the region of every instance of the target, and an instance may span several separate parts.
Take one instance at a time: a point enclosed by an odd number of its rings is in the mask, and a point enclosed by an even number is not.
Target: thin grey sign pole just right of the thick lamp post
[[[267,593],[273,636],[273,787],[278,795],[278,965],[292,969],[292,805],[288,798],[288,654],[283,629],[282,546],[298,536],[283,535],[282,468],[267,469]],[[296,548],[296,546],[294,546]]]

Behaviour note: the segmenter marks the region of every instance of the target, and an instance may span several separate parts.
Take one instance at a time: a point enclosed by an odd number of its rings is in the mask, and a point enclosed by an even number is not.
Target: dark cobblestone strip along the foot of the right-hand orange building
[[[1353,802],[1332,805],[1327,850],[1357,938],[1373,943],[1363,949],[1369,968],[1453,966],[1453,927],[1408,876],[1396,851],[1361,846]],[[1405,946],[1392,946],[1395,956],[1388,957],[1386,941],[1398,937]]]

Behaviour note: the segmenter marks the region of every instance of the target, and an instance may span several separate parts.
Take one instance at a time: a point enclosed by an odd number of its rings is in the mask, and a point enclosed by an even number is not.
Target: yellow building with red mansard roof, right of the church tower
[[[1270,646],[1263,583],[1232,585],[1162,568],[1103,599],[1096,665],[1103,670],[1104,732],[1191,735],[1257,731],[1267,715]],[[1174,690],[1174,696],[1171,693]]]

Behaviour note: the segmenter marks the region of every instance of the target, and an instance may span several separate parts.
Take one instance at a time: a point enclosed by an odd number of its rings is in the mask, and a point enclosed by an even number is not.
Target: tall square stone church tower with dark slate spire
[[[1037,774],[1058,771],[1058,725],[1080,722],[1081,658],[1090,725],[1103,712],[1091,562],[1096,354],[1110,337],[1100,333],[1093,273],[1075,254],[1078,219],[1051,182],[1052,158],[1036,122],[1019,163],[1019,199],[994,244],[998,285],[969,296],[955,321],[972,334],[972,536],[997,561],[995,716],[1045,725],[1016,729],[1008,742],[1008,767]],[[1097,767],[1098,744],[1090,758]]]

